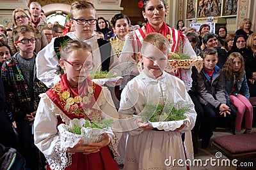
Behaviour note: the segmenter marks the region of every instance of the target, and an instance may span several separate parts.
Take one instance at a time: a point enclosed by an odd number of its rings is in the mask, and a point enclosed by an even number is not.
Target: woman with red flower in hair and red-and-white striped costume
[[[177,31],[164,23],[164,18],[167,15],[166,4],[164,0],[143,0],[138,3],[139,8],[142,8],[142,15],[147,21],[147,25],[128,34],[125,41],[120,62],[124,64],[124,81],[123,86],[132,77],[138,75],[136,60],[137,53],[140,51],[141,43],[145,36],[151,32],[163,34],[170,42],[170,52],[184,53],[189,57],[196,57],[196,53],[191,47],[188,38],[182,32]],[[186,85],[186,90],[191,88],[191,70],[179,69],[177,76],[182,78]]]

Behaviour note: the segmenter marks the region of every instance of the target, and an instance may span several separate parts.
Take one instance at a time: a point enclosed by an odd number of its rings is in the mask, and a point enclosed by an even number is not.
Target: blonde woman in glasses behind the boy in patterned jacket
[[[32,26],[31,17],[28,14],[28,11],[25,11],[21,8],[17,8],[12,13],[13,16],[13,28],[18,25],[29,25]],[[13,40],[12,33],[8,34],[8,45],[12,49],[12,53],[19,52],[19,49],[13,44],[15,41]],[[35,52],[38,53],[48,44],[47,38],[44,34],[44,31],[39,31],[36,29],[36,44],[35,44]]]

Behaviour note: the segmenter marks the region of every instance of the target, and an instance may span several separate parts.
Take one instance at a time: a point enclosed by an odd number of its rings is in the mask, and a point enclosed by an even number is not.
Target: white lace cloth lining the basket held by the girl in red
[[[114,135],[110,127],[108,129],[83,127],[84,122],[86,122],[84,118],[74,118],[73,120],[70,120],[69,125],[58,125],[61,147],[73,148],[81,140],[84,140],[84,145],[88,143],[98,143],[104,138],[104,133],[108,134],[109,136]],[[75,126],[81,127],[81,134],[73,134],[72,132],[68,131],[68,128],[73,128]]]

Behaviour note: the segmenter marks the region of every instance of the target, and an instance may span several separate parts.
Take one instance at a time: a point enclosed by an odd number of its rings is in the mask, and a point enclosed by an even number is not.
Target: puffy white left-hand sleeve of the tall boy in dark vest
[[[51,88],[60,81],[60,62],[54,51],[54,39],[36,57],[36,76]]]

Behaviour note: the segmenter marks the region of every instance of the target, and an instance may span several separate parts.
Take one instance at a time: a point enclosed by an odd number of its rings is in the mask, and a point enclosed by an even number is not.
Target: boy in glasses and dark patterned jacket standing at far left
[[[26,168],[38,169],[39,151],[34,145],[33,122],[40,98],[47,90],[36,78],[35,42],[36,29],[19,25],[13,29],[14,45],[19,48],[2,67],[6,102],[12,108],[20,139],[20,153],[26,159]]]

